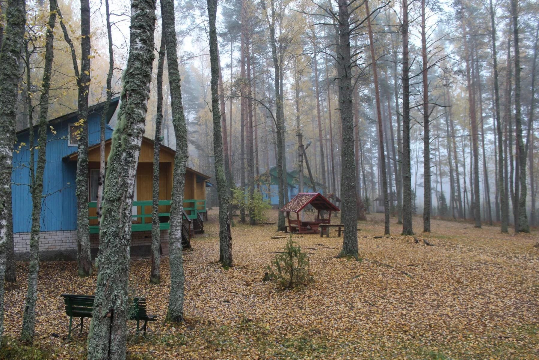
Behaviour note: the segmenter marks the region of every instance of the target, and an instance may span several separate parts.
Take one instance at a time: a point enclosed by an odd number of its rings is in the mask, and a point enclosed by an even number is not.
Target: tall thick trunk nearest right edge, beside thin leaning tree
[[[516,146],[519,152],[519,180],[520,192],[518,199],[519,226],[515,227],[515,232],[529,233],[528,215],[526,213],[526,149],[522,139],[522,119],[520,108],[520,50],[519,50],[519,13],[518,0],[511,0],[511,12],[513,18],[513,37],[515,46],[515,126],[516,126]]]

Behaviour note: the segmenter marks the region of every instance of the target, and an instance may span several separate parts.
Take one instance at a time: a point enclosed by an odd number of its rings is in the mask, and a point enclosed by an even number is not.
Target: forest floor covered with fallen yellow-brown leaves
[[[271,216],[276,217],[277,212]],[[331,230],[295,237],[309,254],[314,283],[282,291],[263,282],[266,267],[286,237],[275,226],[232,228],[234,267],[219,257],[216,212],[206,233],[184,253],[186,323],[164,324],[169,294],[168,258],[162,282],[148,283],[149,259],[133,260],[130,293],[144,296],[146,338],[128,322],[131,359],[537,359],[539,358],[539,234],[502,235],[498,227],[432,221],[419,240],[383,233],[382,214],[360,221],[360,261],[337,259],[342,237]],[[8,336],[19,334],[27,264],[6,289]],[[43,262],[39,273],[37,338],[54,358],[85,358],[84,332],[66,341],[68,317],[61,293],[93,294],[96,276],[79,279],[75,262]],[[74,320],[73,323],[78,321]]]

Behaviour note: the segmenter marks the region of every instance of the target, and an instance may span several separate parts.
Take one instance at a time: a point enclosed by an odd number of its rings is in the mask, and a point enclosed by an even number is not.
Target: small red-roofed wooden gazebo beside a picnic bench
[[[314,221],[301,221],[300,213],[307,205],[311,205],[316,210],[316,219]],[[324,198],[320,193],[299,193],[288,202],[282,209],[286,213],[289,231],[297,231],[300,234],[317,233],[321,224],[331,223],[331,212],[340,211],[331,201]],[[328,218],[323,218],[320,212],[327,211]],[[296,213],[296,219],[290,218],[290,213]]]

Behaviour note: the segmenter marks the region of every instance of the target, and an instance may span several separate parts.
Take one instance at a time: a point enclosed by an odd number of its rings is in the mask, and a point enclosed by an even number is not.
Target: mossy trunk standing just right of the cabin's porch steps
[[[211,63],[211,111],[213,117],[213,152],[215,153],[215,179],[219,199],[219,261],[223,267],[232,266],[232,235],[230,234],[229,191],[226,183],[223,137],[219,114],[219,57],[217,48],[217,0],[208,0],[210,19],[210,63]]]

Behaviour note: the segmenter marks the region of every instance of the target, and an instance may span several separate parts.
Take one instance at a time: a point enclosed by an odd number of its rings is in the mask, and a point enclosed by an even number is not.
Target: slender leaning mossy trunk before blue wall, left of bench
[[[32,342],[36,327],[37,281],[39,272],[39,230],[43,194],[43,173],[45,172],[45,148],[47,145],[47,114],[49,113],[49,89],[51,87],[52,61],[54,57],[54,24],[56,23],[56,4],[50,3],[49,22],[45,42],[45,64],[43,68],[42,89],[39,98],[39,130],[36,173],[33,175],[32,227],[30,232],[30,264],[28,267],[28,287],[23,314],[23,328],[20,338]],[[33,131],[33,129],[31,129]],[[33,156],[30,158],[33,162]]]

